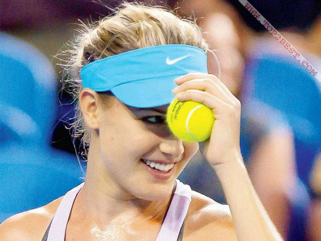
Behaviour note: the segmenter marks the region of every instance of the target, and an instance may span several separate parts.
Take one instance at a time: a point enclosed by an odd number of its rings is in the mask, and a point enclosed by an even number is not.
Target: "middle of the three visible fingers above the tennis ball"
[[[173,90],[173,94],[178,94],[179,92],[187,91],[189,89],[196,89],[201,91],[206,91],[214,96],[220,98],[222,101],[227,102],[231,105],[234,104],[234,101],[230,99],[225,91],[222,90],[221,86],[213,82],[209,78],[202,79],[191,79],[188,80]]]

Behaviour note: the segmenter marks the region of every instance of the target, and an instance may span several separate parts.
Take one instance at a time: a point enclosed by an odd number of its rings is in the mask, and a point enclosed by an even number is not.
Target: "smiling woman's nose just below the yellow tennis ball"
[[[178,161],[184,153],[183,142],[178,138],[165,139],[160,143],[160,150],[165,155],[170,155],[170,159]]]

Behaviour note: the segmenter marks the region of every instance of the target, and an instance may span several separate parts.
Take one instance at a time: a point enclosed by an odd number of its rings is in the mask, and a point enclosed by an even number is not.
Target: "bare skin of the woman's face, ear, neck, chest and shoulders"
[[[80,104],[91,142],[86,182],[74,201],[66,240],[155,240],[175,179],[197,152],[198,142],[182,142],[165,122],[143,120],[165,118],[168,105],[155,108],[160,113],[126,106],[115,97],[106,103],[88,88],[82,90]],[[172,177],[155,179],[141,158],[175,162]],[[62,198],[7,219],[0,225],[0,236],[41,240]],[[193,191],[184,240],[204,238],[207,229],[214,237],[224,231],[226,240],[236,240],[228,205]]]

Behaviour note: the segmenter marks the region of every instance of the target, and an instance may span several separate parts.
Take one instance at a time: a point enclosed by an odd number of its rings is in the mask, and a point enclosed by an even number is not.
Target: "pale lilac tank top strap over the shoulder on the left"
[[[70,216],[71,208],[74,204],[76,195],[85,182],[69,190],[56,210],[55,216],[51,220],[47,241],[64,241],[67,222]]]

